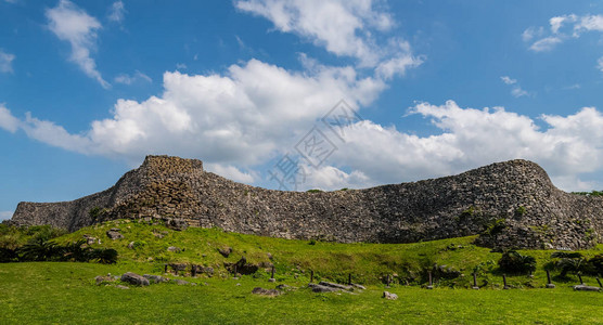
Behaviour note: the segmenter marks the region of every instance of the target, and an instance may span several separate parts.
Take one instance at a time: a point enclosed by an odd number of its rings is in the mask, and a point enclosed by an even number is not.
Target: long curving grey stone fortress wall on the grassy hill
[[[149,156],[106,191],[73,202],[20,203],[12,220],[75,231],[117,218],[344,243],[482,234],[486,246],[575,249],[601,240],[603,198],[560,191],[526,160],[413,183],[299,193],[232,182],[195,159]]]

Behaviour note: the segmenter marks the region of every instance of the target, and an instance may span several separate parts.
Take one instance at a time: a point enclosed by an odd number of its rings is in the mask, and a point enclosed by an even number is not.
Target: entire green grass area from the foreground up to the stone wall
[[[117,226],[124,239],[111,240],[105,232]],[[167,232],[164,238],[153,233]],[[171,231],[162,225],[116,221],[87,227],[56,238],[57,243],[79,239],[84,234],[102,238],[94,246],[119,251],[117,264],[75,262],[26,262],[0,264],[1,324],[603,324],[603,294],[574,291],[578,280],[570,275],[544,289],[542,265],[551,251],[522,251],[537,259],[534,277],[513,275],[514,287],[502,290],[496,261],[501,253],[472,245],[474,237],[416,244],[334,244],[286,240],[224,233],[217,229]],[[139,242],[134,249],[130,242]],[[313,245],[312,245],[313,244]],[[167,247],[183,248],[168,252]],[[218,249],[232,247],[223,258]],[[601,253],[603,246],[582,251]],[[273,257],[268,258],[268,252]],[[277,283],[269,283],[267,270],[233,280],[223,262],[272,262]],[[94,276],[124,272],[163,274],[166,262],[189,262],[213,266],[213,277],[167,275],[198,284],[171,283],[119,289],[94,283]],[[422,288],[421,268],[437,263],[461,271],[465,276],[436,280],[436,288]],[[477,266],[477,268],[476,268]],[[307,288],[309,271],[316,277],[367,285],[362,292],[315,294]],[[478,271],[479,290],[471,288],[473,270]],[[397,274],[385,288],[381,277]],[[406,283],[409,285],[406,285]],[[595,285],[593,277],[585,282]],[[240,284],[240,285],[238,285]],[[287,284],[296,290],[269,298],[252,294],[254,287],[274,288]],[[398,300],[381,298],[384,290]]]

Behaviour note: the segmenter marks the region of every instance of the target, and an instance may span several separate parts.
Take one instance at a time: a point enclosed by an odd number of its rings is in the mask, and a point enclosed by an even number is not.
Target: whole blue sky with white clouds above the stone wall
[[[602,81],[595,1],[0,0],[0,219],[147,154],[298,191],[513,158],[602,188]]]

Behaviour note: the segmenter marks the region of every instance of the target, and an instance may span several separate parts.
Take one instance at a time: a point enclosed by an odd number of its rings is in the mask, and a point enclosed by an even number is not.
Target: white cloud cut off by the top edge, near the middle
[[[293,32],[339,56],[358,58],[362,67],[379,67],[383,78],[403,75],[423,58],[408,42],[388,38],[377,44],[374,34],[389,31],[392,15],[372,0],[245,0],[238,9],[262,16],[275,29]]]

